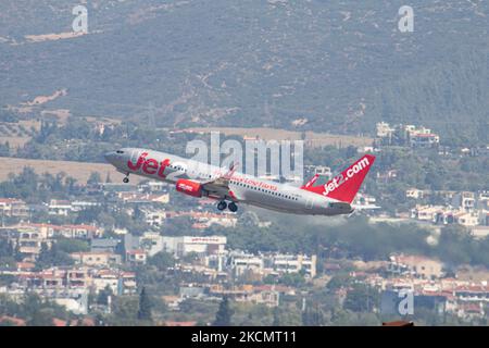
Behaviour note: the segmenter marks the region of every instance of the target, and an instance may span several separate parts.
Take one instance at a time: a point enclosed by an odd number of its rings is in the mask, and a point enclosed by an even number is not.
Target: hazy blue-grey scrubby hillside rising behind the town
[[[164,127],[369,133],[423,123],[487,141],[489,3],[98,0],[0,3],[0,104],[139,117]],[[151,110],[149,107],[151,105]]]

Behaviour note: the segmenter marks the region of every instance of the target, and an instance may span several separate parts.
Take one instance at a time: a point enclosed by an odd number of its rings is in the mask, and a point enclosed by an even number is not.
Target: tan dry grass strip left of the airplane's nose
[[[87,162],[72,162],[72,161],[48,161],[48,160],[27,160],[0,157],[0,181],[5,181],[9,173],[21,173],[25,166],[30,166],[36,173],[58,174],[60,172],[66,173],[85,184],[92,172],[98,172],[103,181],[109,173],[112,182],[121,182],[124,175],[117,172],[112,165],[104,163],[87,163]],[[139,183],[143,179],[140,176],[133,175],[131,183]]]

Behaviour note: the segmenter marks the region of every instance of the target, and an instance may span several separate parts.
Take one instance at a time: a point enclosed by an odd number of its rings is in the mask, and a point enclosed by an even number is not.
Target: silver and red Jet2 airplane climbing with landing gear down
[[[238,203],[303,215],[351,214],[351,204],[375,156],[365,154],[326,184],[315,185],[318,174],[305,185],[296,187],[260,179],[228,169],[184,159],[178,156],[141,148],[122,148],[104,154],[105,160],[125,175],[129,174],[175,185],[177,191],[191,197],[217,200],[217,209],[238,210]]]

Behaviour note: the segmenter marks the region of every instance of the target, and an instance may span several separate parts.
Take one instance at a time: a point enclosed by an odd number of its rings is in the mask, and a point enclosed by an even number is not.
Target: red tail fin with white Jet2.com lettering
[[[302,189],[351,203],[374,161],[375,156],[365,154],[326,184],[315,187],[304,185]]]

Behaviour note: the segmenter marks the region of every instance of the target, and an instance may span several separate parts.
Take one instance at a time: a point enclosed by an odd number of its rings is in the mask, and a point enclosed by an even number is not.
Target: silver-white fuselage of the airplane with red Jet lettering
[[[215,165],[148,149],[124,148],[106,153],[105,159],[124,174],[142,175],[171,184],[178,179],[210,182],[226,173]],[[338,215],[352,212],[349,203],[239,172],[231,175],[228,187],[229,192],[225,197],[204,196],[296,214]]]

